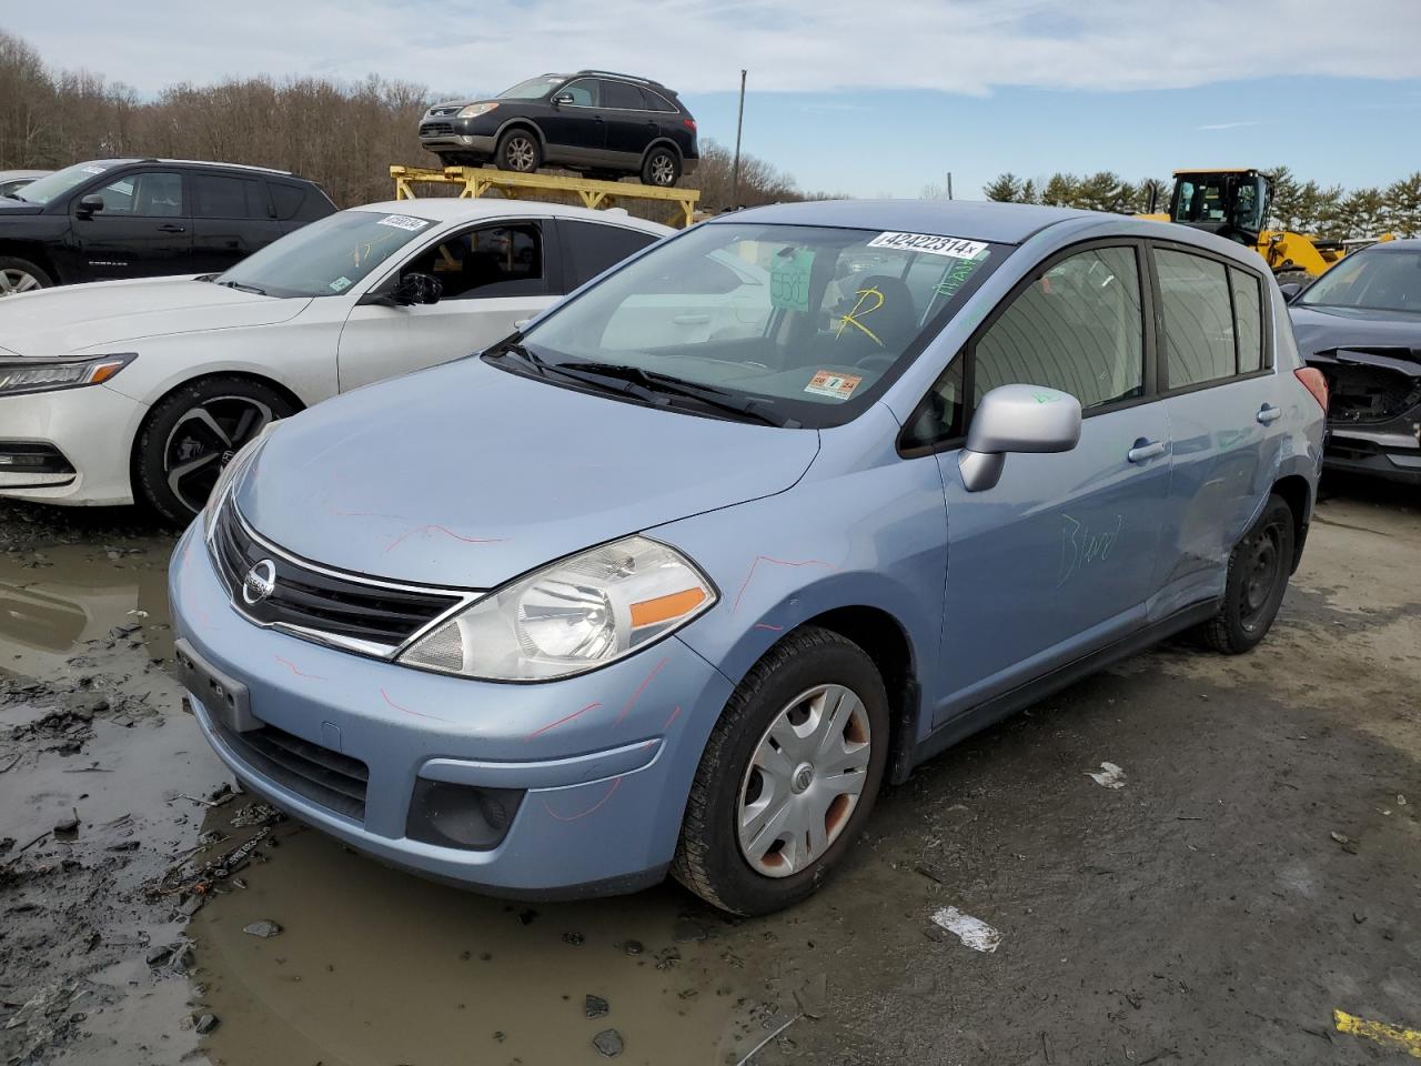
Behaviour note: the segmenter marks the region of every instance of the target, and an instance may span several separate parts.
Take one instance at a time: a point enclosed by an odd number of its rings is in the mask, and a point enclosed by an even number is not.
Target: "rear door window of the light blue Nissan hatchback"
[[[1228,269],[1212,259],[1157,249],[1164,310],[1165,382],[1187,388],[1233,377],[1233,306]]]

